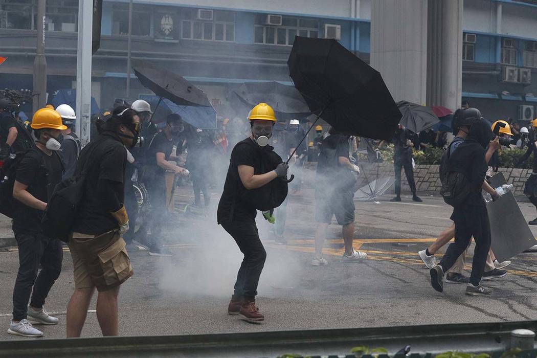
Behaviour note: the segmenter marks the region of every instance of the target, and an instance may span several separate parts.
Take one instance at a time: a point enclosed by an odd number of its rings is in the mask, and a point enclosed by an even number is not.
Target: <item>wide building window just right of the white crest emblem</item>
[[[235,13],[231,11],[185,9],[181,17],[183,39],[235,41]]]

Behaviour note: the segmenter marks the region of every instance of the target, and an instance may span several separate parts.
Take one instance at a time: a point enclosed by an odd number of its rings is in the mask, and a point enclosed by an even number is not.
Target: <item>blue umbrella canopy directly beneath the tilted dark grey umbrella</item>
[[[141,94],[140,99],[148,101],[151,108],[155,108],[159,100],[157,96],[153,96],[152,94]],[[164,98],[158,106],[151,121],[154,123],[164,122],[166,116],[171,113],[179,114],[185,122],[195,128],[216,128],[216,111],[212,106],[179,106],[166,98]]]

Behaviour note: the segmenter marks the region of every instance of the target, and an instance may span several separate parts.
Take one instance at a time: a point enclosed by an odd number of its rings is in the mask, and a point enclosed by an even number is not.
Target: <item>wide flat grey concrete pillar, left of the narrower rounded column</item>
[[[371,4],[371,65],[396,101],[425,104],[427,0],[375,0]]]

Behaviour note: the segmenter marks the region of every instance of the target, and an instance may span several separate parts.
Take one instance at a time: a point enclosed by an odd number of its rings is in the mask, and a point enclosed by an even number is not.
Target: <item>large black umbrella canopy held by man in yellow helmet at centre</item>
[[[390,139],[401,113],[382,76],[339,42],[296,36],[289,75],[311,112],[343,134]]]

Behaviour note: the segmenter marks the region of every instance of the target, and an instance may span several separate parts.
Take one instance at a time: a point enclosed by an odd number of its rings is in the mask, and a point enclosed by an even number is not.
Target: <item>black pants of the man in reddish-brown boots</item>
[[[263,271],[267,253],[257,232],[256,222],[222,223],[222,227],[231,235],[244,254],[241,268],[238,269],[235,295],[253,298],[257,296],[259,276]]]

